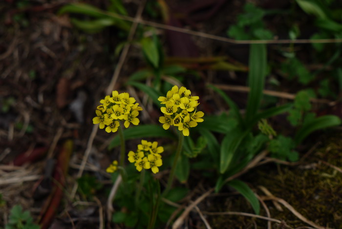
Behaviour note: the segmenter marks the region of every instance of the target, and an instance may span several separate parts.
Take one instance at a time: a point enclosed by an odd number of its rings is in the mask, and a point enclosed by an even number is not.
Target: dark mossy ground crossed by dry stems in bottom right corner
[[[330,137],[325,146],[315,150],[297,166],[268,164],[250,171],[241,179],[248,182],[259,196],[265,194],[257,188],[262,185],[274,196],[284,199],[308,220],[323,227],[342,229],[342,173],[321,163],[342,167],[342,135]],[[228,190],[226,190],[228,191]],[[240,211],[253,213],[252,207],[240,195],[215,197],[217,205],[210,211]],[[266,201],[271,217],[283,220],[290,227],[309,226],[287,208],[278,211],[271,201]],[[260,215],[266,216],[261,207]],[[244,229],[254,224],[266,228],[267,221],[251,217],[224,215],[209,216],[213,228]],[[272,228],[279,225],[272,223]]]

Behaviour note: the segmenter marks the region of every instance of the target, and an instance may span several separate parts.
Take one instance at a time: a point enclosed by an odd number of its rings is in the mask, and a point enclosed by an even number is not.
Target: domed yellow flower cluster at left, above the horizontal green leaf
[[[97,107],[96,117],[93,118],[93,123],[100,123],[100,129],[106,127],[106,132],[116,132],[120,126],[117,120],[125,120],[125,127],[128,128],[129,124],[139,124],[139,111],[143,109],[139,107],[139,103],[135,103],[135,98],[129,97],[127,92],[118,93],[112,92],[112,96],[107,95],[105,99],[101,99],[102,105]]]

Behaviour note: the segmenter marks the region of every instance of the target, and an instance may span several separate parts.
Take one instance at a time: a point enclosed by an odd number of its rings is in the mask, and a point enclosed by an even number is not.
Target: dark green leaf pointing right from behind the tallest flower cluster
[[[238,125],[235,118],[231,118],[225,114],[220,116],[205,115],[203,119],[204,121],[198,123],[197,128],[207,129],[222,134],[230,132]]]

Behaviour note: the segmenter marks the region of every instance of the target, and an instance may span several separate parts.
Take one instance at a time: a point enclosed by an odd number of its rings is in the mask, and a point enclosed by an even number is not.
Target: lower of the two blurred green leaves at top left
[[[92,21],[84,21],[71,18],[70,22],[77,28],[84,30],[88,33],[97,33],[105,27],[115,24],[115,21],[110,18],[101,18]]]

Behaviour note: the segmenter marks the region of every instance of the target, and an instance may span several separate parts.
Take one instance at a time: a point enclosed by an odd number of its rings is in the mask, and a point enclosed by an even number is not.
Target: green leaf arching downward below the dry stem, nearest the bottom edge
[[[231,186],[236,189],[242,196],[244,196],[249,203],[251,203],[254,212],[258,215],[260,211],[260,203],[256,198],[256,195],[252,191],[252,189],[244,182],[239,180],[233,180],[227,183],[228,186]]]

